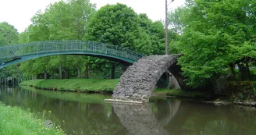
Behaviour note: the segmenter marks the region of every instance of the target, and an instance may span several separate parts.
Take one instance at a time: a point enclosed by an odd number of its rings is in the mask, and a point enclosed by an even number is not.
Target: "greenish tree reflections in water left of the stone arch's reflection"
[[[49,98],[35,91],[15,90],[8,92],[5,89],[1,92],[0,98],[5,98],[4,102],[7,105],[22,105],[23,108],[30,108],[32,112],[43,112],[44,109],[48,112],[50,110],[52,114],[49,119],[52,119],[56,125],[65,128],[67,134],[112,135],[127,133],[122,124],[119,123],[115,113],[112,112],[112,106],[106,103],[60,100]],[[45,92],[49,93],[49,91]],[[73,96],[73,94],[69,95]],[[57,96],[59,94],[55,97]],[[18,100],[19,97],[20,101]],[[103,101],[101,97],[102,95],[96,98]]]

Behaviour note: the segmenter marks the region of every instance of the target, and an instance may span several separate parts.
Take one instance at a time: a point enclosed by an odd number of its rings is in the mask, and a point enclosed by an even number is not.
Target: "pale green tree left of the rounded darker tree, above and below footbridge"
[[[49,5],[44,13],[39,11],[32,17],[32,24],[20,34],[20,43],[48,40],[81,40],[85,34],[87,20],[90,19],[94,12],[95,7],[89,0],[55,2]],[[83,59],[86,58],[83,57]],[[73,59],[73,57],[66,55],[41,58],[34,61],[31,71],[36,74],[44,73],[46,75],[50,73],[55,76],[55,69],[57,68],[59,69],[59,78],[68,78],[69,73],[72,73],[70,68],[73,68],[73,62],[80,63],[80,61],[80,57],[79,59]],[[80,69],[78,66],[76,68]],[[48,71],[48,73],[45,71]]]

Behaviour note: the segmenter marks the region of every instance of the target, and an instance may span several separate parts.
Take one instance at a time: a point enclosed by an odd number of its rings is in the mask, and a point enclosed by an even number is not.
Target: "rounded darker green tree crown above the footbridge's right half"
[[[95,13],[87,25],[84,39],[134,50],[140,37],[137,14],[133,9],[118,3],[105,5]]]

